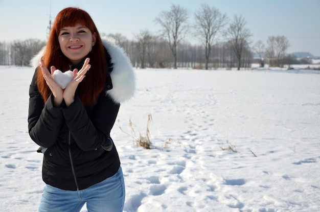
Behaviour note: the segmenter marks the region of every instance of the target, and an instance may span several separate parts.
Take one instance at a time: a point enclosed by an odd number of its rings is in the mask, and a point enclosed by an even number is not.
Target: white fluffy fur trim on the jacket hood
[[[135,91],[135,75],[133,67],[124,50],[120,48],[113,39],[102,38],[102,43],[107,49],[113,63],[113,70],[110,73],[112,81],[112,89],[107,94],[116,103],[130,100],[134,96]],[[44,53],[44,48],[31,59],[30,64],[36,68]]]

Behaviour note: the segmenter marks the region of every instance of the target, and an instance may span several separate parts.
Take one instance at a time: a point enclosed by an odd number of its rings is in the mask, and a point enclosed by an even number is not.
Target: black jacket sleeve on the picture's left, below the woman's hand
[[[36,85],[36,73],[37,69],[29,88],[29,135],[39,146],[51,147],[63,123],[62,108],[53,106],[52,95],[44,104]]]

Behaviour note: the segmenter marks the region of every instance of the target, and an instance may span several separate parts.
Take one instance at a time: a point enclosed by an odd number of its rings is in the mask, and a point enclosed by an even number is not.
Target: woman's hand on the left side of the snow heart
[[[41,59],[40,60],[40,68],[42,70],[43,78],[44,78],[45,82],[47,82],[47,85],[49,86],[49,88],[53,94],[53,97],[54,97],[53,104],[55,107],[59,107],[62,103],[62,100],[63,100],[63,90],[53,79],[53,73],[55,72],[56,67],[51,66],[51,73],[50,73],[48,68],[44,64],[44,61]]]

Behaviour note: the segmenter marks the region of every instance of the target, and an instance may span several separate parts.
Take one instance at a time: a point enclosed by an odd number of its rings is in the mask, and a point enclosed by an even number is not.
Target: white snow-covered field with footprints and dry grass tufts
[[[44,186],[28,135],[33,72],[0,66],[2,212],[37,211]],[[111,132],[125,211],[320,211],[319,71],[136,69],[136,77]],[[131,120],[144,136],[149,114],[146,150],[125,132]]]

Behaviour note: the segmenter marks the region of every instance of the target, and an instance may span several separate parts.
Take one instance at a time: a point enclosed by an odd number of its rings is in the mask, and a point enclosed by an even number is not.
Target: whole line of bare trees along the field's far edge
[[[269,66],[293,64],[288,56],[290,43],[285,36],[269,36],[266,43],[251,41],[252,33],[246,28],[242,15],[232,19],[219,9],[201,4],[189,20],[190,12],[172,4],[162,11],[154,22],[161,29],[157,34],[148,29],[134,34],[129,40],[122,34],[105,34],[112,37],[127,53],[135,67],[146,68],[250,68],[253,62]],[[192,44],[187,37],[197,38]],[[45,45],[39,39],[0,42],[0,65],[29,66],[30,59]],[[259,56],[254,58],[253,55]],[[296,62],[296,61],[295,61]]]

